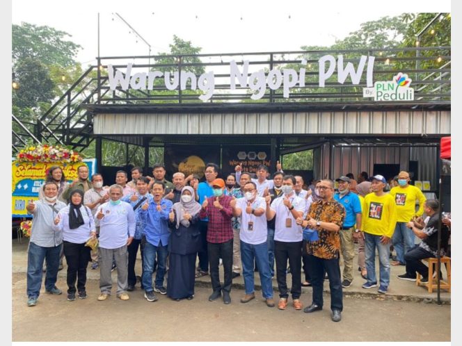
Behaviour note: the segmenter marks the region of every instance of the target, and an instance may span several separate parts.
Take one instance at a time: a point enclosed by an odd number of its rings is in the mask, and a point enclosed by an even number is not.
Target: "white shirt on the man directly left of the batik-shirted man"
[[[302,228],[296,224],[296,219],[292,215],[291,211],[289,211],[289,208],[284,205],[284,198],[285,196],[274,199],[270,206],[272,211],[276,211],[274,240],[278,240],[280,242],[301,242],[303,240]],[[295,195],[295,192],[292,192],[289,200],[296,211],[305,213],[306,202],[304,198],[300,198]],[[291,220],[290,227],[285,226],[286,219]]]

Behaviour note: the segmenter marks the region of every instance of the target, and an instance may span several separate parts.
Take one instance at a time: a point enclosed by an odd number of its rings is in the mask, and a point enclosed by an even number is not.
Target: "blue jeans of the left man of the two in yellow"
[[[365,254],[366,254],[366,269],[367,282],[377,283],[375,273],[375,249],[379,252],[379,272],[381,286],[388,287],[390,284],[390,243],[383,245],[380,242],[381,236],[364,233],[365,237]]]

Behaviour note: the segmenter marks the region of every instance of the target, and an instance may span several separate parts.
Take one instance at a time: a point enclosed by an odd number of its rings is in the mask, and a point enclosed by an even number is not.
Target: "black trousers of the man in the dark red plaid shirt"
[[[223,290],[225,292],[230,292],[232,284],[232,239],[221,243],[208,242],[207,245],[207,249],[209,250],[212,289],[214,291]],[[225,282],[223,286],[221,286],[220,275],[218,273],[220,258],[223,260],[223,271],[225,272]]]

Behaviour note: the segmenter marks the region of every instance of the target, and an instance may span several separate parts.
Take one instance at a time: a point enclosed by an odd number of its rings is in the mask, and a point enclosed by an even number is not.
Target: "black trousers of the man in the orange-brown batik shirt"
[[[308,255],[308,269],[313,288],[313,303],[323,306],[324,273],[329,277],[330,309],[343,310],[342,279],[339,258],[325,259]]]

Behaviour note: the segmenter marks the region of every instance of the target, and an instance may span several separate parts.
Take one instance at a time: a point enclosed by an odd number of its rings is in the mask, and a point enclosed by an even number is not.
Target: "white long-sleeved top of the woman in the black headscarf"
[[[73,242],[74,244],[83,244],[90,238],[90,233],[95,231],[95,221],[93,215],[91,215],[90,208],[86,206],[80,207],[80,213],[82,214],[83,224],[77,229],[69,228],[69,209],[70,206],[59,211],[59,223],[53,224],[55,231],[63,232],[63,240],[66,242]]]

